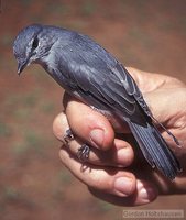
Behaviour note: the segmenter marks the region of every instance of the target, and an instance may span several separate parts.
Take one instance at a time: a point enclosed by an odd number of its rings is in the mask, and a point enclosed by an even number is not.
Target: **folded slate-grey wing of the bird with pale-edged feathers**
[[[68,84],[89,105],[111,108],[127,119],[140,123],[141,108],[146,103],[127,69],[107,51],[80,35],[61,52],[58,69],[68,77]],[[70,89],[69,89],[70,90]]]

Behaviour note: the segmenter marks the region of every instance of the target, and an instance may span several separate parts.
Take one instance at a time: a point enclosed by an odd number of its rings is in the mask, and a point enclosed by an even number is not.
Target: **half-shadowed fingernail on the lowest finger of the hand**
[[[140,193],[139,193],[139,197],[141,197],[141,199],[144,202],[150,202],[152,200],[154,200],[157,196],[157,191],[154,190],[154,188],[152,187],[146,187],[146,188],[141,188]]]

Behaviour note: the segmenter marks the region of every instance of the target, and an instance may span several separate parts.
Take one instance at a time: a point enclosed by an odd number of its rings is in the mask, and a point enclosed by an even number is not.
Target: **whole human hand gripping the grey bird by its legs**
[[[183,172],[173,180],[152,169],[131,138],[127,124],[109,121],[103,114],[65,94],[64,112],[53,123],[55,136],[64,143],[70,128],[75,140],[59,151],[62,163],[98,198],[121,206],[136,206],[153,201],[158,195],[186,193],[186,85],[176,78],[128,68],[154,118],[179,141],[160,128],[162,135],[176,154]],[[124,133],[118,135],[117,133]],[[124,141],[125,140],[125,141]],[[91,152],[86,164],[77,158],[77,151],[88,143]],[[85,168],[86,166],[86,168]]]

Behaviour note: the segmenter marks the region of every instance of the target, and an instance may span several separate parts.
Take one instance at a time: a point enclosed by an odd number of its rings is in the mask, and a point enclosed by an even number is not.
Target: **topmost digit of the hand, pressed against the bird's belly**
[[[64,97],[64,102],[70,129],[77,136],[101,150],[113,145],[114,131],[103,114],[68,95]],[[117,127],[121,129],[119,122]]]

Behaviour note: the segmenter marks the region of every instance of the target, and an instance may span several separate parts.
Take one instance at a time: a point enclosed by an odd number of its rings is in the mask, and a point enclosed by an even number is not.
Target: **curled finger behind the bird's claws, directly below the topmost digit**
[[[69,129],[66,116],[62,112],[56,117],[53,123],[55,136],[64,142],[65,132]],[[74,155],[77,155],[78,150],[84,144],[78,138],[75,138],[68,143],[68,147]],[[122,166],[127,167],[132,164],[134,153],[129,143],[114,139],[113,146],[107,152],[91,147],[88,162],[97,165]]]

